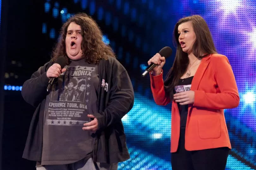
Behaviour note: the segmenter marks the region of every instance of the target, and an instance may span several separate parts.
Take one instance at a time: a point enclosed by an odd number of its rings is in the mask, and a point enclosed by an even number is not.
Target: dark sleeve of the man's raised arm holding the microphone
[[[37,107],[41,101],[46,98],[47,85],[49,82],[46,76],[46,68],[50,62],[47,62],[44,66],[40,67],[34,72],[30,79],[26,80],[21,89],[21,95],[24,100],[34,107]]]

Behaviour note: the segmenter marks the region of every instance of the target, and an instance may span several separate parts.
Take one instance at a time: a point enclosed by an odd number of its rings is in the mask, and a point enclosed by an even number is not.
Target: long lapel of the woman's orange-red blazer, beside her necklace
[[[204,57],[192,79],[192,83],[191,83],[191,90],[198,90],[198,86],[199,86],[199,83],[204,75],[204,72],[210,62],[210,57],[211,57],[211,54],[207,57]]]

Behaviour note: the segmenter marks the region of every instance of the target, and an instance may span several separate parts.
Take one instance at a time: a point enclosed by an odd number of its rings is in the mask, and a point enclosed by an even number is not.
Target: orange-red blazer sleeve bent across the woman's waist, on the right
[[[194,106],[225,109],[238,106],[240,98],[238,94],[235,76],[226,56],[215,58],[214,78],[217,82],[220,93],[207,93],[195,90]]]

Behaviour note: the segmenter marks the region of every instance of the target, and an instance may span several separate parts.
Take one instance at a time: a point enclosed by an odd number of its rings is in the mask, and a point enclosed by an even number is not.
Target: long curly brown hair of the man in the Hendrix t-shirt
[[[59,56],[65,56],[67,64],[70,63],[70,59],[66,53],[65,38],[67,35],[67,29],[71,22],[75,22],[81,26],[82,29],[82,43],[81,49],[83,58],[89,64],[98,64],[101,59],[107,60],[107,56],[116,57],[112,48],[109,45],[104,44],[102,41],[102,32],[98,24],[85,13],[78,13],[72,16],[61,27],[60,38],[55,48],[52,51],[53,62]]]

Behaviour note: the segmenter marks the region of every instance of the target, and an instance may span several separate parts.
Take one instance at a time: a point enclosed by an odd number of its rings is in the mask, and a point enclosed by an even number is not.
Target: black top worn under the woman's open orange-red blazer
[[[194,76],[191,76],[185,79],[179,79],[179,84],[174,87],[174,93],[189,91],[193,77]],[[177,104],[180,111],[180,128],[185,129],[186,122],[187,122],[188,104],[186,105],[180,105],[180,103],[177,103]]]

